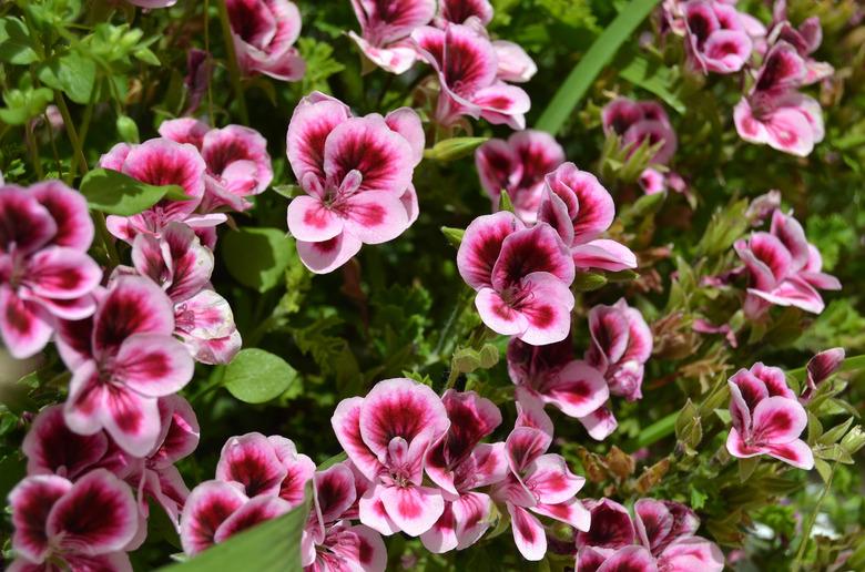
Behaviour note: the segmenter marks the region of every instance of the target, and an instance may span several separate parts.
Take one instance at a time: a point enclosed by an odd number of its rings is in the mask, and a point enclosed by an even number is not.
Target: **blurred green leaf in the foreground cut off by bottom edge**
[[[163,572],[301,570],[301,535],[309,515],[311,498],[309,487],[307,487],[304,503],[291,512],[245,530],[186,562],[161,570]]]

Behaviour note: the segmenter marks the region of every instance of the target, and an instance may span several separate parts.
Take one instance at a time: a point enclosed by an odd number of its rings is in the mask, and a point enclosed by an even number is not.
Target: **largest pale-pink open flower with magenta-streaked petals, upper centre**
[[[288,231],[311,270],[332,272],[363,244],[393,241],[417,218],[411,176],[424,131],[413,110],[353,118],[347,105],[315,92],[295,108],[287,146],[306,193],[288,205]]]

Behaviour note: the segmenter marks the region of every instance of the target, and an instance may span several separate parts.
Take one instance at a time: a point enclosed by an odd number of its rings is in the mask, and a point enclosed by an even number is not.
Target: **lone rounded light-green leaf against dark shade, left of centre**
[[[225,367],[223,384],[241,401],[264,404],[279,397],[296,378],[297,371],[279,356],[247,348]]]

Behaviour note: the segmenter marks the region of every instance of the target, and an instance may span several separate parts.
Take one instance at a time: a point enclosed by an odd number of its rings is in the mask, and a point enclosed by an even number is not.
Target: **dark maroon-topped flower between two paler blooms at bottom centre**
[[[499,409],[474,391],[448,389],[441,397],[450,429],[427,453],[426,470],[441,487],[445,512],[420,540],[427,550],[462,550],[489,528],[492,500],[477,489],[496,484],[508,474],[505,443],[482,443],[501,423]]]

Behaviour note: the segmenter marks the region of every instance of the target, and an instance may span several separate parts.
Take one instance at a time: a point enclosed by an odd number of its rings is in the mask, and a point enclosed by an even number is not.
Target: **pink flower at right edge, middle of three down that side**
[[[749,277],[745,315],[752,319],[772,304],[820,314],[825,304],[817,289],[841,289],[837,278],[821,272],[823,259],[802,225],[780,210],[772,214],[770,232],[754,233],[734,246]]]

